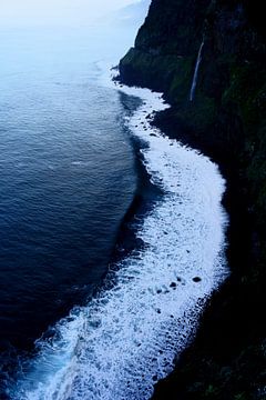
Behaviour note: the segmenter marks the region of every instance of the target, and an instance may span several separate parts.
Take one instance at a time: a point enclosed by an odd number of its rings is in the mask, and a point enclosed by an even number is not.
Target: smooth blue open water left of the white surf
[[[117,61],[134,33],[0,30],[3,376],[106,273],[137,177],[129,110],[101,83],[101,66]]]

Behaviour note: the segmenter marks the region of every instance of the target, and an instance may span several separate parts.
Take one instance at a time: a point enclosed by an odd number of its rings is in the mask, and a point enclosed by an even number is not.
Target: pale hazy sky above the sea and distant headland
[[[0,0],[1,26],[84,24],[140,0]]]

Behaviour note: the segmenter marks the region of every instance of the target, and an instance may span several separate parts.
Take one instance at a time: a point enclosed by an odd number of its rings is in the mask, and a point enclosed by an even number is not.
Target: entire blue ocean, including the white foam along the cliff
[[[3,399],[149,399],[227,274],[217,167],[109,78],[141,21],[0,31]]]

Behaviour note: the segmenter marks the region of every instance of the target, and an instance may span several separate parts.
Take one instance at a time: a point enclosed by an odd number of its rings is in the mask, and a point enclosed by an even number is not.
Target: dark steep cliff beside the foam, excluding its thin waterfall
[[[135,47],[120,62],[123,81],[163,91],[172,104],[155,123],[205,151],[228,181],[232,278],[214,296],[195,344],[155,398],[266,399],[263,16],[257,0],[153,0]]]

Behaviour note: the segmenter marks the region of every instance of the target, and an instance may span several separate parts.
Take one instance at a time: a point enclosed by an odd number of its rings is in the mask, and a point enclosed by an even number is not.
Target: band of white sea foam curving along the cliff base
[[[164,137],[147,114],[167,107],[146,89],[127,119],[151,180],[164,196],[144,219],[145,243],[115,269],[115,283],[55,327],[13,399],[145,400],[193,338],[206,299],[225,279],[225,182],[197,151]],[[194,278],[201,281],[194,281]]]

